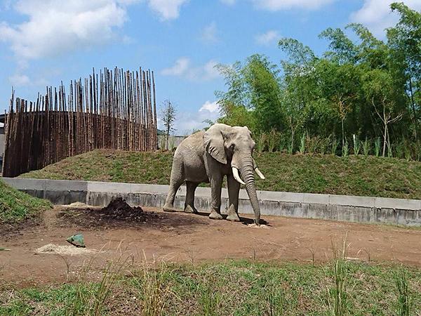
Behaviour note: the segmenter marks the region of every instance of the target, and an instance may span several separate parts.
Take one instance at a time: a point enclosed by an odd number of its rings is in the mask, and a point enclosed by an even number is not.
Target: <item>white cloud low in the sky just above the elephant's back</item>
[[[210,119],[216,121],[220,117],[219,106],[216,102],[206,101],[197,112],[180,112],[180,119],[175,121],[175,128],[178,135],[189,135],[192,131],[203,129],[208,123],[203,122]]]

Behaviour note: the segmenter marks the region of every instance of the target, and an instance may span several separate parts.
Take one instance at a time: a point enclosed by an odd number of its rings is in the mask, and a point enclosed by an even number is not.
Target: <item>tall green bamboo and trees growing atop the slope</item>
[[[290,153],[300,150],[305,131],[319,140],[335,136],[342,152],[353,134],[381,136],[382,156],[393,153],[392,144],[401,138],[420,142],[421,13],[402,3],[391,8],[399,22],[387,29],[385,40],[354,23],[323,31],[329,46],[321,56],[296,39],[281,39],[286,58],[279,66],[263,55],[221,65],[227,91],[216,93],[220,121],[255,133],[279,131],[289,138]],[[354,153],[362,145],[354,144]],[[411,156],[420,154],[411,150]]]

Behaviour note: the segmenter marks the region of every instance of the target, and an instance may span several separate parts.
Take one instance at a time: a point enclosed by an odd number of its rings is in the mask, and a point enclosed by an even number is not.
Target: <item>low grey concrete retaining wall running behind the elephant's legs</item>
[[[135,183],[104,183],[94,181],[38,180],[3,178],[6,183],[30,195],[49,199],[55,204],[83,202],[105,206],[113,197],[123,197],[128,204],[163,206],[168,185]],[[186,188],[180,187],[175,206],[182,209]],[[346,220],[363,223],[392,223],[421,226],[421,200],[389,199],[384,197],[354,197],[347,195],[318,195],[309,193],[258,191],[262,216],[290,216]],[[222,189],[222,213],[228,204],[226,189]],[[196,189],[195,206],[206,211],[210,206],[210,189]],[[240,190],[240,213],[253,214],[245,190]]]

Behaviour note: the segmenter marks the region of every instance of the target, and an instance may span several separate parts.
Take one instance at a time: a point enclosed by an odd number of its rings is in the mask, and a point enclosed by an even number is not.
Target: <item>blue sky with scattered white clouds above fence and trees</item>
[[[396,22],[388,0],[0,0],[0,111],[16,96],[34,100],[92,67],[154,70],[158,105],[178,107],[176,133],[218,117],[217,63],[253,53],[279,63],[281,37],[321,53],[327,27],[361,22],[377,37]],[[421,10],[421,0],[404,1]]]

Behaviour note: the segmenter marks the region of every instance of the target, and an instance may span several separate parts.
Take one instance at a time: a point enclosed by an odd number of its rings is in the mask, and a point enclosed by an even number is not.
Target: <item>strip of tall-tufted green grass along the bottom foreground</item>
[[[403,307],[409,315],[420,311],[420,269],[342,264],[347,300],[340,315],[401,315]],[[337,289],[335,272],[334,262],[161,263],[119,277],[101,310],[105,315],[339,315],[331,308]],[[402,277],[396,282],[396,275],[403,274],[404,291],[399,284]],[[95,315],[98,287],[100,283],[92,282],[37,289],[4,287],[0,315]],[[83,304],[75,304],[76,299]]]

